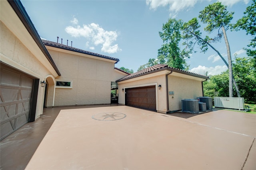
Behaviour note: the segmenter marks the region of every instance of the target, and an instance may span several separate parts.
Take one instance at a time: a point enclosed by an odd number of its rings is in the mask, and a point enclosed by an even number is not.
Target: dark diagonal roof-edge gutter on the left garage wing
[[[34,27],[32,21],[30,20],[28,13],[26,12],[24,6],[20,2],[20,0],[8,0],[10,6],[12,6],[14,12],[16,12],[17,16],[20,18],[38,47],[41,49],[42,53],[46,56],[46,59],[50,62],[58,76],[61,76],[60,71],[58,70],[56,64],[52,60],[52,57],[50,56],[49,52],[47,51],[46,47],[44,46],[44,43],[42,42],[40,36],[38,35],[38,32],[36,31],[36,28]]]

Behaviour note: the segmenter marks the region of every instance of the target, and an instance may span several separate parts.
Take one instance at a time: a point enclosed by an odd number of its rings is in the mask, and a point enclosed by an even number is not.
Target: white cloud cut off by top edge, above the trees
[[[176,15],[188,8],[194,7],[198,0],[146,0],[146,4],[152,10],[156,10],[160,6],[169,6],[170,16],[175,18]]]

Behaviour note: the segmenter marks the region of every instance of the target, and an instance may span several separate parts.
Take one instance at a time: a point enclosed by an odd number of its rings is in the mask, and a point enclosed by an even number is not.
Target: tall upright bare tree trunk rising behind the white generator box
[[[221,25],[222,28],[222,32],[223,32],[223,36],[224,36],[224,40],[226,43],[226,47],[227,47],[227,55],[228,55],[228,70],[229,70],[229,97],[232,98],[233,97],[233,68],[232,68],[232,59],[231,59],[231,53],[230,53],[230,47],[229,47],[229,43],[228,43],[228,38],[226,35],[226,30],[224,28],[224,25]]]

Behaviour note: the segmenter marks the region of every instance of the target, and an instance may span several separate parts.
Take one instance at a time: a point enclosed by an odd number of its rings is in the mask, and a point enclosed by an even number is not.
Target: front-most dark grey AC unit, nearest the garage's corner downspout
[[[199,113],[198,100],[194,99],[183,99],[182,101],[182,111],[188,113]]]

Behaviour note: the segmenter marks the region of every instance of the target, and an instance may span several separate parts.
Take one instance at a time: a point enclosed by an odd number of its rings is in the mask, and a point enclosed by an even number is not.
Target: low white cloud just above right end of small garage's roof
[[[223,66],[215,66],[215,67],[206,67],[199,65],[198,67],[192,68],[190,72],[194,72],[197,74],[205,75],[208,72],[208,75],[217,75],[221,72],[224,72],[228,69],[226,65]]]

